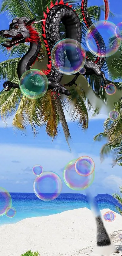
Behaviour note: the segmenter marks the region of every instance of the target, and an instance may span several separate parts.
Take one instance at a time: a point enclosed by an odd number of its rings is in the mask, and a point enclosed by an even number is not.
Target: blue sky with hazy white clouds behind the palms
[[[119,1],[110,1],[110,10],[116,13],[114,19],[109,19],[117,24],[122,20],[122,10]],[[102,5],[103,1],[90,1],[89,5]],[[102,13],[101,19],[103,19]],[[1,14],[1,28],[6,29],[9,25],[9,20],[5,14]],[[7,59],[6,56],[0,54],[1,61]],[[0,86],[2,90],[2,84]],[[95,178],[91,185],[93,195],[98,193],[119,192],[119,187],[122,185],[122,167],[112,167],[112,158],[108,157],[103,163],[100,162],[100,149],[103,142],[94,142],[93,137],[103,131],[103,123],[107,115],[101,113],[94,119],[90,119],[87,131],[78,129],[76,123],[70,121],[70,117],[66,114],[71,137],[74,143],[74,149],[77,157],[87,155],[92,157],[95,162]],[[91,118],[91,112],[89,113]],[[70,153],[65,142],[62,127],[59,127],[58,137],[52,142],[45,132],[45,127],[39,130],[40,134],[35,138],[28,127],[26,134],[23,135],[18,130],[13,130],[12,117],[7,121],[8,127],[5,128],[5,123],[0,119],[0,186],[7,189],[9,192],[33,192],[33,181],[35,176],[32,174],[32,167],[35,164],[41,164],[44,171],[54,171],[63,177],[64,166],[74,156]],[[63,182],[62,193],[79,193],[69,189]],[[85,193],[81,191],[81,193]]]

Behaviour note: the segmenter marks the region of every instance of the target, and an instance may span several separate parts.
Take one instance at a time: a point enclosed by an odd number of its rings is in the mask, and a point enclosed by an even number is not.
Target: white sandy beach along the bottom
[[[101,211],[102,215],[109,209]],[[107,232],[122,255],[122,216],[113,222],[104,220]],[[93,255],[96,245],[96,225],[87,208],[65,211],[45,217],[26,218],[16,224],[0,226],[0,255],[20,256],[28,250],[40,256]],[[111,254],[113,255],[113,254]]]

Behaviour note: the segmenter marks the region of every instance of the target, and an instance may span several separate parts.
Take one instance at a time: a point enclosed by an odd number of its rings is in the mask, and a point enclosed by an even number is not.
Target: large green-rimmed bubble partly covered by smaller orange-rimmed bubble
[[[75,171],[75,162],[77,159],[71,160],[64,168],[63,178],[65,184],[73,190],[83,190],[91,185],[94,180],[94,171],[91,175],[81,176]]]

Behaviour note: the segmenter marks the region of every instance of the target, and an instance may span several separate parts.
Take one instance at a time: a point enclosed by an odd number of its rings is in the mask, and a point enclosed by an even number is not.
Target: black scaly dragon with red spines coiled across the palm
[[[104,3],[104,20],[107,20],[109,16],[108,0],[104,0]],[[75,10],[72,9],[72,5],[68,5],[68,3],[64,4],[63,0],[61,0],[59,3],[56,2],[55,4],[51,2],[50,9],[47,7],[46,13],[43,13],[44,20],[41,20],[42,37],[48,55],[48,68],[42,71],[48,78],[48,90],[52,90],[52,95],[55,95],[55,93],[58,92],[57,97],[59,97],[61,94],[69,96],[71,95],[71,92],[68,91],[68,89],[65,86],[72,86],[73,84],[77,85],[75,81],[77,80],[77,77],[80,75],[80,73],[76,73],[75,77],[68,84],[61,85],[60,82],[63,77],[63,74],[56,70],[52,65],[51,50],[54,47],[54,45],[61,40],[61,22],[64,24],[65,27],[66,38],[71,38],[81,43],[81,22]],[[86,24],[87,28],[89,28],[93,23],[88,14],[87,0],[81,1],[81,13],[83,16],[84,23]],[[7,42],[2,43],[2,46],[6,47],[7,49],[10,49],[14,45],[30,42],[28,52],[21,58],[20,62],[18,63],[17,73],[19,80],[22,74],[30,69],[30,67],[34,64],[35,60],[39,56],[39,52],[41,49],[41,39],[36,29],[32,26],[33,24],[38,22],[40,21],[36,21],[36,19],[30,20],[29,18],[24,16],[21,18],[15,17],[12,20],[12,23],[9,25],[8,30],[0,31],[0,36],[2,36],[3,38],[12,38],[10,40],[7,39]],[[101,56],[102,53],[104,54],[103,56],[105,56],[105,44],[103,38],[97,30],[94,34],[94,39],[97,44],[97,49],[101,53]],[[68,55],[68,59],[70,61],[70,55]],[[61,63],[64,62],[63,54],[60,56],[60,61]],[[84,75],[96,74],[97,76],[100,76],[104,81],[103,87],[105,88],[105,86],[107,86],[110,82],[108,82],[108,80],[105,78],[103,71],[101,71],[104,62],[105,57],[97,56],[95,61],[92,61],[87,57],[84,65],[86,69]],[[11,81],[5,81],[3,87],[5,88],[5,91],[9,91],[11,88],[20,88],[18,84],[15,84]]]

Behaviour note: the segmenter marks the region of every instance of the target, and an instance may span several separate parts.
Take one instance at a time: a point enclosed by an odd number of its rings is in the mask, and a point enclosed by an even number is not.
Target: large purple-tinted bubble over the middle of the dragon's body
[[[54,45],[51,50],[51,62],[60,73],[75,74],[84,67],[86,52],[78,41],[66,38]]]

